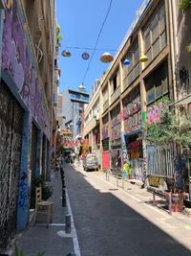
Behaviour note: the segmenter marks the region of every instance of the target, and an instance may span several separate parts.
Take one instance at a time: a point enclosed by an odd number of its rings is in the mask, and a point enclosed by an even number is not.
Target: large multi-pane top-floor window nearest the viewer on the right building
[[[163,1],[147,24],[143,32],[144,52],[149,59],[145,63],[146,65],[153,58],[156,58],[166,45],[165,8]]]

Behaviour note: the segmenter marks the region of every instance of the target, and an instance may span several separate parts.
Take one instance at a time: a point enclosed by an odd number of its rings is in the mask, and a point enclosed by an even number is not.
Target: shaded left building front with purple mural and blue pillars
[[[35,178],[50,175],[54,122],[54,1],[4,4],[0,11],[0,249],[29,221]]]

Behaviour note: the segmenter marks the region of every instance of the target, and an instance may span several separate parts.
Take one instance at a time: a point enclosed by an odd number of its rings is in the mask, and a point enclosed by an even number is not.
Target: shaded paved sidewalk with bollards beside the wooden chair
[[[45,251],[44,256],[66,256],[74,254],[73,236],[65,233],[65,215],[68,210],[62,207],[61,178],[59,171],[52,171],[53,196],[53,223],[46,227],[46,220],[30,225],[27,231],[19,235],[17,245],[23,248],[25,256],[37,256],[39,252]],[[45,217],[43,216],[43,219]]]

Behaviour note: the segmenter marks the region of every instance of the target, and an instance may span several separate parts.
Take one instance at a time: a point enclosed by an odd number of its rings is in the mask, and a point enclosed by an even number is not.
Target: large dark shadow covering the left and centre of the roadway
[[[82,256],[191,255],[185,246],[115,197],[112,192],[116,189],[100,193],[73,167],[65,165],[64,171]]]

